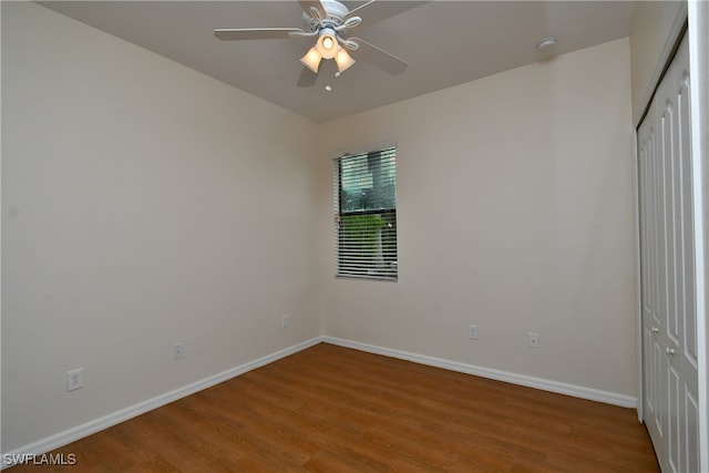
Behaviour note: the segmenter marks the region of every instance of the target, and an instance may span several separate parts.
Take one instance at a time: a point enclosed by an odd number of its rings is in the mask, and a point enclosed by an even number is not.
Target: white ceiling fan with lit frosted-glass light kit
[[[316,43],[300,59],[305,65],[299,86],[314,85],[322,59],[332,59],[338,72],[345,72],[354,59],[362,59],[390,74],[399,74],[407,69],[407,61],[388,53],[361,38],[350,37],[350,30],[363,22],[368,25],[402,13],[421,2],[370,0],[351,11],[336,0],[299,0],[302,9],[304,28],[229,28],[216,29],[214,35],[223,41],[279,40],[291,38],[314,38]]]

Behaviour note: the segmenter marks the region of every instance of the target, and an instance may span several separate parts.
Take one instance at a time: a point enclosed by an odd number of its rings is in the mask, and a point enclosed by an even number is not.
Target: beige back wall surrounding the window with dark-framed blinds
[[[636,395],[629,74],[623,39],[323,125],[398,142],[400,270],[333,278],[323,157],[325,333]]]

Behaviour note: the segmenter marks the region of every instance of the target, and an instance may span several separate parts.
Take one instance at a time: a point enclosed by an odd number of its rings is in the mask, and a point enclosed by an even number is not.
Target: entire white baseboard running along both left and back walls
[[[413,361],[420,364],[428,364],[431,367],[443,368],[446,370],[458,371],[458,372],[467,373],[467,374],[474,374],[482,378],[490,378],[497,381],[510,382],[513,384],[525,385],[528,388],[541,389],[544,391],[556,392],[559,394],[573,395],[575,398],[588,399],[592,401],[605,402],[607,404],[620,405],[623,408],[637,407],[637,398],[634,398],[631,395],[618,394],[618,393],[608,392],[608,391],[600,391],[597,389],[567,384],[563,382],[551,381],[551,380],[545,380],[540,378],[533,378],[524,374],[511,373],[507,371],[493,370],[490,368],[476,367],[474,364],[461,363],[458,361],[444,360],[442,358],[434,358],[425,354],[418,354],[418,353],[395,350],[391,348],[378,347],[374,345],[346,340],[337,337],[320,336],[320,337],[315,337],[310,340],[306,340],[301,343],[294,345],[292,347],[286,348],[275,353],[258,358],[254,361],[249,361],[236,368],[232,368],[229,370],[223,371],[215,376],[196,381],[192,384],[187,384],[185,387],[178,388],[174,391],[166,392],[164,394],[140,402],[137,404],[113,412],[109,415],[104,415],[102,418],[99,418],[93,421],[86,422],[84,424],[78,425],[75,428],[65,430],[58,434],[48,436],[40,441],[21,446],[11,452],[3,452],[0,470],[4,470],[6,467],[12,466],[14,462],[17,462],[17,460],[13,461],[13,459],[21,459],[22,455],[32,455],[32,454],[41,455],[43,453],[51,452],[52,450],[55,450],[69,443],[75,442],[80,439],[89,436],[104,429],[109,429],[110,426],[127,421],[129,419],[133,419],[145,412],[152,411],[153,409],[157,409],[173,401],[185,398],[189,394],[194,394],[195,392],[210,388],[215,384],[227,381],[232,378],[236,378],[239,374],[244,374],[256,368],[260,368],[268,363],[273,363],[274,361],[277,361],[281,358],[286,358],[290,354],[297,353],[298,351],[305,350],[320,342],[331,343],[339,347],[352,348],[354,350],[366,351],[369,353],[383,354],[386,357],[399,358],[402,360]]]

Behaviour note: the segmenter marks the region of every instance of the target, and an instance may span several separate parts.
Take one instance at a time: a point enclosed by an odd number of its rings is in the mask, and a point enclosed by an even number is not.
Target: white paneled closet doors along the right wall
[[[699,471],[689,53],[638,128],[646,424],[662,471]]]

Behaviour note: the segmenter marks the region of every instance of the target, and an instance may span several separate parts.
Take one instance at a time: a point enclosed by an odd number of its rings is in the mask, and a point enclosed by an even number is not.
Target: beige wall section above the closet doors
[[[640,1],[635,4],[630,29],[630,64],[633,120],[636,125],[674,47],[674,29],[680,25],[686,16],[686,1]]]

